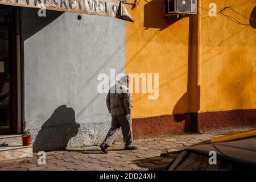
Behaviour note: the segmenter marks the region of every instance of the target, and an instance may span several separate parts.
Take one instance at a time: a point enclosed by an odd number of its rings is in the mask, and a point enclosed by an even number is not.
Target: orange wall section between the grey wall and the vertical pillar
[[[177,102],[187,92],[188,18],[164,18],[162,4],[126,7],[134,19],[126,24],[126,73],[159,73],[159,98],[133,94],[133,117],[187,112],[188,100]]]

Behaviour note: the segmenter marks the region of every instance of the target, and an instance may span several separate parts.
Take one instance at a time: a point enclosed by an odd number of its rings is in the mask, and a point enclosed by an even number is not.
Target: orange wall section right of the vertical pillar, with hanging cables
[[[238,5],[240,1],[201,1],[207,8],[215,2],[217,12],[225,6]],[[253,1],[251,1],[253,2]],[[235,10],[250,17],[256,2],[237,7]],[[224,12],[240,22],[249,19]],[[202,10],[202,18],[208,12]],[[256,22],[255,22],[256,23]],[[201,20],[200,85],[201,111],[218,111],[256,108],[256,29],[242,26],[224,15]]]

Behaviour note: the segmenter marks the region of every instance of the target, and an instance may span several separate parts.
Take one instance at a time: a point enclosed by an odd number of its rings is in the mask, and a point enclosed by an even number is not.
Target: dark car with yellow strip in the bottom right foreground
[[[166,170],[256,170],[256,130],[188,147],[176,156]]]

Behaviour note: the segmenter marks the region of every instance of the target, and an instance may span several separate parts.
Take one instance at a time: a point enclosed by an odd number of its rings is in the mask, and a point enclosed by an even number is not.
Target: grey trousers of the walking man
[[[122,129],[123,142],[125,142],[125,147],[130,147],[133,145],[133,130],[131,129],[131,114],[123,115],[112,115],[111,128],[106,135],[104,142],[109,146],[112,145],[115,136],[119,128]]]

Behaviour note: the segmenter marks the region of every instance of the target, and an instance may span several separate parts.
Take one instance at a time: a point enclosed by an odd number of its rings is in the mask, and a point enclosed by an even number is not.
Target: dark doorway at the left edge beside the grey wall
[[[14,9],[0,6],[0,134],[17,132]]]

